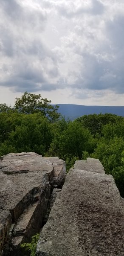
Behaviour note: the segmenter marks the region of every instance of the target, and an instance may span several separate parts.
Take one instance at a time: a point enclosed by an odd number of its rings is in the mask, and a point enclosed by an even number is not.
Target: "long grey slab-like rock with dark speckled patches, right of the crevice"
[[[124,256],[124,200],[99,160],[87,162],[86,170],[76,162],[79,169],[68,173],[42,229],[37,256]]]

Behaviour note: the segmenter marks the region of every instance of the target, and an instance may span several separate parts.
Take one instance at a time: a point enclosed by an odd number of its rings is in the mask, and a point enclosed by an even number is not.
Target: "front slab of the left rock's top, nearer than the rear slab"
[[[48,177],[42,172],[0,174],[0,208],[9,210],[15,223],[23,210],[34,203],[37,193],[45,189],[46,182]]]

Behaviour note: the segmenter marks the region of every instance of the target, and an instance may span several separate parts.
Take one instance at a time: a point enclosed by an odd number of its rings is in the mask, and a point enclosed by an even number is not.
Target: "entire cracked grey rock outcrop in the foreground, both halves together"
[[[28,256],[20,244],[37,232],[37,256],[124,256],[124,199],[113,177],[93,158],[65,172],[58,157],[0,157],[0,256]]]

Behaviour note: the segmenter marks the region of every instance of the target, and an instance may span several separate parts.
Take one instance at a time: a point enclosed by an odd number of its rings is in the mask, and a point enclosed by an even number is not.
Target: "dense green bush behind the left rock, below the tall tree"
[[[19,114],[20,115],[20,114]],[[18,125],[8,134],[7,140],[0,145],[0,153],[36,152],[44,155],[52,140],[51,124],[39,113],[23,115]]]

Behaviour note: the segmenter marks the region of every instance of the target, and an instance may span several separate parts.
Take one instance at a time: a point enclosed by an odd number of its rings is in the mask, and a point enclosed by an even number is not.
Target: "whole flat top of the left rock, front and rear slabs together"
[[[37,193],[44,189],[48,182],[45,180],[45,173],[48,173],[51,184],[54,173],[58,175],[58,185],[65,179],[63,160],[58,157],[42,157],[35,153],[8,154],[3,158],[0,168],[0,209],[10,210],[13,222],[17,221],[27,205],[36,200]],[[57,174],[56,168],[59,169]]]

